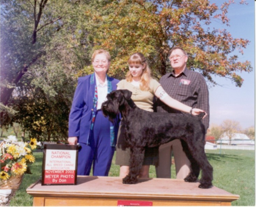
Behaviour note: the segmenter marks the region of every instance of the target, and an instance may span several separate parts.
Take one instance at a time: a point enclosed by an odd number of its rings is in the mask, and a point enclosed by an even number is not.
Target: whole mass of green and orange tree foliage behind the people
[[[212,76],[218,75],[241,87],[240,72],[252,71],[249,61],[239,61],[249,41],[211,25],[228,25],[232,3],[218,7],[207,0],[1,1],[1,103],[8,105],[1,108],[1,125],[17,121],[32,130],[25,114],[38,114],[40,103],[56,121],[52,130],[50,119],[39,113],[45,120],[38,122],[40,133],[56,134],[57,125],[67,124],[77,77],[93,72],[91,55],[99,48],[110,52],[108,73],[118,79],[125,77],[134,52],[143,53],[152,75],[160,78],[171,70],[169,50],[181,46],[189,54],[188,67],[209,83],[216,84]],[[23,115],[15,117],[14,111]]]

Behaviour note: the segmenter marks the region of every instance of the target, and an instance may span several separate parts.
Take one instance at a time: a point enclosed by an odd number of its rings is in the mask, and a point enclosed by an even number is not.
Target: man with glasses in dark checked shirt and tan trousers
[[[172,98],[192,108],[202,109],[207,116],[202,120],[205,130],[209,127],[209,92],[204,77],[186,68],[187,53],[181,47],[169,52],[173,72],[163,75],[160,84]],[[156,101],[157,112],[182,113],[169,108],[160,100]],[[180,140],[173,140],[159,147],[159,165],[156,177],[171,178],[171,155],[174,155],[176,178],[184,179],[190,172],[190,161],[186,157]]]

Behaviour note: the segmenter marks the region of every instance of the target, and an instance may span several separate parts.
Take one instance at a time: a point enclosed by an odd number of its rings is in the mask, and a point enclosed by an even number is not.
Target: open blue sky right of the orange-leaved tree
[[[211,3],[220,5],[224,0],[210,0]],[[224,120],[238,121],[242,128],[255,126],[255,2],[247,0],[248,5],[241,5],[239,0],[228,9],[230,27],[225,27],[220,22],[214,22],[215,28],[226,28],[233,38],[250,40],[244,49],[244,54],[239,53],[239,61],[251,62],[253,72],[237,73],[244,79],[241,88],[235,87],[231,80],[225,77],[216,77],[214,80],[221,86],[209,88],[210,94],[210,126],[220,125]]]

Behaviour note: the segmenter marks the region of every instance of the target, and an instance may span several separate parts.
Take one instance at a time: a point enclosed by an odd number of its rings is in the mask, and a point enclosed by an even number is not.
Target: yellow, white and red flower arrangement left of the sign
[[[3,139],[0,144],[1,180],[8,180],[15,175],[30,173],[28,165],[35,162],[32,150],[41,146],[41,142],[37,142],[35,138],[31,138],[29,143],[18,141],[16,136],[13,135],[7,138]]]

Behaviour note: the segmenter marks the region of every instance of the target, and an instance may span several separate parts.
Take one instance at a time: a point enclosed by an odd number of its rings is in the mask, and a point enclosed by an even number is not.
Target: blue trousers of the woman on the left
[[[115,147],[110,146],[110,124],[102,111],[96,113],[90,145],[80,145],[78,175],[89,175],[93,165],[94,176],[108,176]]]

